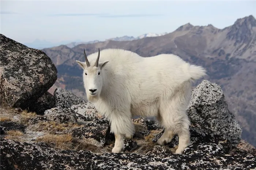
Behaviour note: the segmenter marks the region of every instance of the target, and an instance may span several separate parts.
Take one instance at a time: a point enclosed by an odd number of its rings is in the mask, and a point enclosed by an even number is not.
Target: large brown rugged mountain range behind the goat
[[[229,109],[242,127],[242,138],[256,146],[256,20],[252,15],[223,29],[187,23],[161,36],[118,39],[43,49],[58,70],[58,79],[49,92],[61,87],[86,99],[82,69],[75,61],[84,61],[83,49],[87,55],[98,48],[126,49],[143,57],[173,53],[207,69],[205,78],[223,89]]]

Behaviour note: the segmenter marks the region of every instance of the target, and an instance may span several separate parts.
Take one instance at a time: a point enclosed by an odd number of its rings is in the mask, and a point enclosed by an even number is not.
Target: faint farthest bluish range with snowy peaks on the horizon
[[[165,35],[167,34],[167,32],[162,33],[162,34],[153,34],[153,33],[148,33],[148,34],[143,34],[140,35],[138,37],[133,37],[133,36],[121,36],[121,37],[116,37],[116,38],[110,38],[107,40],[114,40],[114,41],[129,41],[129,40],[136,40],[136,39],[142,39],[145,37],[154,37],[154,36],[161,36],[161,35]],[[39,40],[36,39],[31,43],[24,43],[24,45],[30,47],[30,48],[34,48],[34,49],[44,49],[44,48],[51,48],[51,47],[55,47],[55,46],[60,46],[60,45],[66,45],[69,48],[73,48],[79,44],[91,44],[91,43],[97,43],[100,42],[99,40],[93,40],[93,41],[88,41],[88,42],[83,42],[81,40],[75,40],[74,42],[70,42],[70,41],[61,41],[61,42],[57,42],[57,43],[52,43],[46,40]]]

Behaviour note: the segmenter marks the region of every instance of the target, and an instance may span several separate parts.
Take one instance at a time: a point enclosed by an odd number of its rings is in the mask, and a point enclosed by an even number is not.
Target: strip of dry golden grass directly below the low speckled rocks
[[[56,134],[68,130],[69,128],[83,127],[77,123],[56,123],[54,121],[39,122],[34,126],[34,131],[48,131],[50,134]]]

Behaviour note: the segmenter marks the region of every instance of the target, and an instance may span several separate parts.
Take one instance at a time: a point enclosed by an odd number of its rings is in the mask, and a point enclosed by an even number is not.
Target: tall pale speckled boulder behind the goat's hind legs
[[[192,90],[187,109],[192,124],[212,130],[236,146],[241,140],[241,127],[229,112],[221,87],[204,80]]]

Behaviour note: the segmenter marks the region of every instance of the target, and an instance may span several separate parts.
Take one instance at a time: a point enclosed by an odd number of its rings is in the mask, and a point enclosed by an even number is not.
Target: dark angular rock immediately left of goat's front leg
[[[109,120],[99,119],[84,125],[82,128],[75,128],[72,136],[80,139],[81,142],[93,144],[95,146],[105,146],[106,143],[114,139],[110,133]]]

